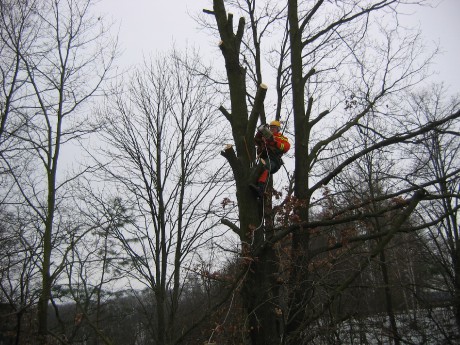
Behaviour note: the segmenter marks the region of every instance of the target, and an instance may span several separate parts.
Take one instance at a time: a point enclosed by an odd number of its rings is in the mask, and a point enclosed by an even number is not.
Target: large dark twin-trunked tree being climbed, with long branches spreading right
[[[252,344],[304,344],[313,339],[309,326],[328,310],[371,259],[383,253],[424,199],[421,187],[434,183],[431,180],[419,185],[410,180],[384,197],[402,197],[396,205],[400,212],[387,230],[378,235],[380,241],[362,258],[360,270],[344,278],[327,300],[315,308],[310,303],[315,299],[315,278],[309,272],[315,255],[312,231],[375,216],[375,210],[359,210],[357,206],[354,214],[338,209],[325,218],[314,219],[312,210],[319,206],[315,199],[323,186],[333,185],[354,162],[369,153],[411,145],[411,140],[460,115],[457,111],[412,126],[401,125],[401,116],[407,114],[397,111],[393,104],[404,90],[423,79],[431,57],[422,54],[417,33],[404,35],[398,25],[398,10],[407,3],[413,2],[289,0],[279,6],[265,6],[268,2],[256,6],[250,0],[226,4],[214,0],[212,10],[205,10],[215,19],[214,28],[221,39],[219,48],[225,61],[229,99],[220,110],[232,129],[235,150],[227,147],[223,156],[235,179],[239,224],[226,220],[224,223],[239,235],[241,256],[252,258],[245,260],[248,273],[241,290]],[[232,10],[227,11],[226,5],[236,10],[244,8],[242,12],[250,17],[251,35],[245,35],[244,17],[234,28]],[[276,8],[279,11],[269,11]],[[280,109],[292,113],[286,131],[294,141],[295,154],[294,195],[284,201],[294,200],[289,208],[291,217],[279,227],[270,226],[270,222],[260,226],[262,208],[248,189],[253,182],[253,135],[258,119],[264,122],[267,110],[263,106],[266,89],[250,82],[260,82],[261,76],[264,80],[273,77],[263,73],[265,65],[258,60],[258,49],[269,27],[286,29],[284,35],[275,37],[279,38],[276,43],[269,43],[271,47],[280,47],[274,50],[276,58],[270,60],[279,62],[272,63],[276,67],[278,101],[274,117],[279,119]],[[253,41],[245,41],[247,37]],[[259,72],[252,74],[256,70]],[[385,126],[368,128],[375,133],[370,144],[350,140],[356,128],[372,125],[366,121],[368,118],[381,119]],[[265,205],[269,202],[265,200]],[[361,236],[356,241],[366,239],[369,238]],[[292,253],[292,261],[286,267],[287,299],[286,294],[280,293],[276,279],[280,266],[274,244],[282,240],[290,243]],[[331,250],[335,247],[331,245]]]

